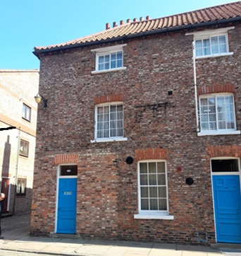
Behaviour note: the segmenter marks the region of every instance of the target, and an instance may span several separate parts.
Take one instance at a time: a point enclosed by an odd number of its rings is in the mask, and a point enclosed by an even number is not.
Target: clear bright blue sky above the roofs
[[[68,42],[130,18],[161,18],[228,0],[0,0],[0,69],[39,69],[34,47]]]

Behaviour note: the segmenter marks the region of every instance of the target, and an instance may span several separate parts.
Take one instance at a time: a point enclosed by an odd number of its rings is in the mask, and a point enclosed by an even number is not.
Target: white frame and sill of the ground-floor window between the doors
[[[165,180],[166,180],[166,210],[142,210],[141,204],[141,185],[140,185],[140,163],[164,163]],[[174,216],[169,214],[168,204],[168,172],[166,160],[142,160],[137,163],[137,187],[138,187],[138,214],[134,214],[134,219],[169,219],[173,220]],[[151,187],[148,185],[147,187]],[[158,187],[158,186],[157,186]],[[150,198],[150,197],[149,197]],[[159,198],[159,197],[158,197]]]

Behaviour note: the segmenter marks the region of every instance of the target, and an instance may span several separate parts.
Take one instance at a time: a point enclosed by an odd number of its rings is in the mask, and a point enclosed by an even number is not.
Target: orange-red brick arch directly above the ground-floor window
[[[135,151],[137,161],[152,160],[152,159],[167,159],[166,149],[137,149]]]

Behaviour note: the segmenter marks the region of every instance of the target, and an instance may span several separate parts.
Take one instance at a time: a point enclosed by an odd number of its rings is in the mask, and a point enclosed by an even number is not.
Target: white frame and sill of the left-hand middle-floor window
[[[122,105],[123,107],[123,135],[122,136],[110,136],[110,130],[111,130],[111,118],[109,118],[109,137],[102,137],[102,138],[98,138],[97,137],[97,121],[98,121],[98,108],[99,107],[106,107],[106,106],[109,106],[109,117],[110,117],[110,107],[112,105]],[[102,103],[102,104],[98,104],[98,105],[95,105],[95,109],[94,109],[94,140],[92,140],[91,142],[94,143],[94,142],[108,142],[108,141],[126,141],[127,138],[124,137],[124,134],[125,134],[125,130],[124,130],[124,105],[123,105],[123,102],[121,101],[115,101],[115,102],[111,102],[111,103]]]

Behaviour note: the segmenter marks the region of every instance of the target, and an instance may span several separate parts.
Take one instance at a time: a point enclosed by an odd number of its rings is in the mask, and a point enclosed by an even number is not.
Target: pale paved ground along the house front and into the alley
[[[162,243],[137,243],[30,235],[30,214],[1,219],[0,255],[63,255],[63,256],[218,256],[240,255],[241,245],[217,244],[193,246]]]

